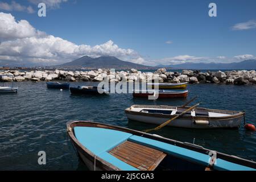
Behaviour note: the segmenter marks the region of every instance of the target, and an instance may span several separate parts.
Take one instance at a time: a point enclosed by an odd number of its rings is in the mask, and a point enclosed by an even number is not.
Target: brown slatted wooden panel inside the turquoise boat
[[[154,170],[166,157],[162,151],[130,141],[119,144],[109,154],[142,171]]]

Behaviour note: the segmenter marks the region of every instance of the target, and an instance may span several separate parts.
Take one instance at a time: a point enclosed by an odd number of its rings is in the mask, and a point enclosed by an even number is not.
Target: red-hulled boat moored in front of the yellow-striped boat
[[[158,98],[185,98],[188,90],[134,90],[133,97],[148,97],[158,94]]]

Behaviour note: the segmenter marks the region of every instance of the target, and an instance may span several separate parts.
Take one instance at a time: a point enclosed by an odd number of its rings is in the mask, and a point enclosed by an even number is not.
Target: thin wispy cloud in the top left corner
[[[35,10],[31,6],[23,6],[15,1],[11,3],[0,2],[0,9],[5,11],[25,11],[27,13],[35,13]]]

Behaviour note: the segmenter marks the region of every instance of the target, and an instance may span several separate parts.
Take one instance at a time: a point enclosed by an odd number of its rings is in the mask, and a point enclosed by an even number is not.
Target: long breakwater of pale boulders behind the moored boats
[[[141,72],[137,69],[130,71],[110,71],[108,69],[98,69],[95,71],[0,71],[1,81],[151,81],[158,79],[159,82],[189,82],[190,84],[216,83],[216,84],[256,84],[256,72],[252,71],[217,71],[201,72],[183,70],[182,72],[167,72],[165,68],[158,69],[156,72]],[[9,76],[8,76],[9,75]]]

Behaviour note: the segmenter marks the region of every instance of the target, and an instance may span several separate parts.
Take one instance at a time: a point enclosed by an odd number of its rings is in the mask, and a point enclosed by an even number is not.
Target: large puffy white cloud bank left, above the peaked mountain
[[[119,48],[112,40],[96,46],[76,45],[68,40],[36,30],[26,20],[17,22],[14,16],[5,13],[0,13],[0,40],[2,40],[0,55],[2,59],[8,58],[7,60],[56,64],[84,55],[92,57],[110,55],[120,58],[137,56],[133,49]]]

